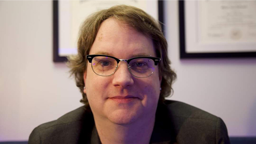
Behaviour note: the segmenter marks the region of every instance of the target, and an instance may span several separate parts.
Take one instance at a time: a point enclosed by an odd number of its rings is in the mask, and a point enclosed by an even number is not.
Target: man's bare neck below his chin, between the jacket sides
[[[102,144],[149,144],[155,123],[155,115],[129,124],[94,119]]]

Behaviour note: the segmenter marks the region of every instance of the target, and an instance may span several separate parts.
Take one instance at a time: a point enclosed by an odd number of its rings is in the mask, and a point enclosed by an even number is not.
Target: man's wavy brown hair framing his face
[[[176,79],[176,74],[171,70],[170,60],[167,53],[167,42],[161,31],[159,22],[145,13],[143,10],[127,5],[113,6],[107,10],[98,11],[89,16],[80,27],[78,39],[78,54],[69,57],[68,66],[71,68],[71,75],[75,76],[76,86],[80,88],[83,98],[80,102],[89,107],[86,94],[83,92],[85,82],[83,79],[84,72],[87,68],[86,55],[89,54],[91,46],[95,40],[96,34],[103,21],[108,18],[115,18],[119,22],[124,22],[138,32],[151,37],[156,56],[161,58],[159,75],[162,76],[160,101],[164,101],[173,91],[171,85]]]

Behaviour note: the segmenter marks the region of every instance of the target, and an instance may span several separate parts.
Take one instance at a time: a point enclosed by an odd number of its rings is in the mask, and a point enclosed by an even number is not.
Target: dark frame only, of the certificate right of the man
[[[186,53],[185,1],[179,0],[180,58],[256,58],[256,52],[239,53]]]

